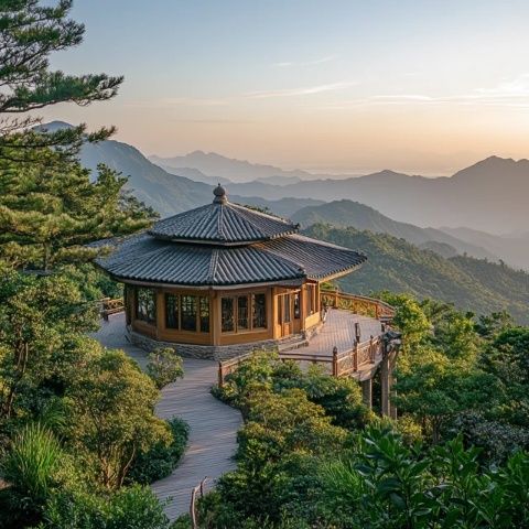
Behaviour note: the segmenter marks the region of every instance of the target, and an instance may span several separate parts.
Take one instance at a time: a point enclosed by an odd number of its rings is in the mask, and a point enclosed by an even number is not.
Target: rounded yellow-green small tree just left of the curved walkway
[[[69,442],[109,489],[122,485],[140,453],[172,440],[166,422],[153,413],[158,389],[120,350],[93,358],[66,397],[72,410]]]

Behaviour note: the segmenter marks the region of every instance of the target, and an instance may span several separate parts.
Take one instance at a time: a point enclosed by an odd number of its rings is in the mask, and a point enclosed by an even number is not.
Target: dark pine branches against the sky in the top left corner
[[[107,100],[122,82],[106,74],[72,76],[50,69],[51,54],[83,41],[85,28],[68,19],[71,9],[72,0],[54,6],[39,0],[0,2],[0,159],[35,160],[48,147],[75,151],[83,141],[100,140],[114,130],[88,136],[85,126],[52,133],[25,130],[40,121],[26,112],[58,102]]]

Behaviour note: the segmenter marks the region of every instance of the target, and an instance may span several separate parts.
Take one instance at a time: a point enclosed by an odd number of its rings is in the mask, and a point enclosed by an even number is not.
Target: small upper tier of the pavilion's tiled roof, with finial
[[[204,245],[239,246],[295,234],[299,225],[228,202],[220,184],[213,204],[158,222],[149,231],[155,238]]]

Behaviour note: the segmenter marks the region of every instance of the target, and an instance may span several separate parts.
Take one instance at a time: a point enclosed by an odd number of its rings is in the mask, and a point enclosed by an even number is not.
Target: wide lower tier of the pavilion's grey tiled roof
[[[96,262],[116,279],[188,287],[322,281],[348,273],[367,259],[301,235],[242,247],[174,242],[147,233],[108,244],[114,251]]]

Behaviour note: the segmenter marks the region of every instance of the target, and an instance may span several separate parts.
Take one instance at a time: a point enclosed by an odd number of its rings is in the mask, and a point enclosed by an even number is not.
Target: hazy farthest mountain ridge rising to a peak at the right
[[[202,158],[208,154],[202,153]],[[217,155],[219,156],[219,155]],[[193,166],[193,156],[185,158]],[[223,168],[208,164],[195,166],[205,174],[234,176],[231,160],[219,156]],[[226,162],[228,160],[230,163]],[[182,163],[182,160],[179,160]],[[240,162],[246,171],[252,171],[249,162]],[[277,171],[278,168],[267,171]],[[270,169],[271,168],[271,169]],[[229,172],[228,171],[231,171]],[[222,171],[228,171],[223,173]],[[253,173],[253,180],[259,176]],[[364,176],[336,177],[314,175],[303,171],[281,172],[279,175],[299,176],[302,182],[273,185],[269,181],[246,182],[230,185],[231,193],[242,196],[259,195],[267,199],[283,196],[317,198],[325,202],[349,198],[369,205],[392,218],[417,226],[469,226],[490,233],[520,229],[528,222],[526,196],[529,195],[529,161],[514,161],[490,156],[458,171],[453,177],[436,179],[398,173],[390,170]],[[248,176],[245,180],[250,180]]]

